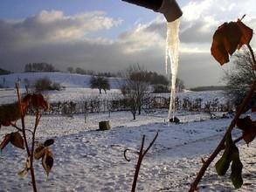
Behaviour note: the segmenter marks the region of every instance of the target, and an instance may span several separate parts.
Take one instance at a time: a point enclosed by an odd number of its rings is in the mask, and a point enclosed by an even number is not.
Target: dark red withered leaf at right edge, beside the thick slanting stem
[[[256,121],[251,120],[249,116],[237,120],[237,127],[243,131],[243,139],[250,143],[256,136]]]

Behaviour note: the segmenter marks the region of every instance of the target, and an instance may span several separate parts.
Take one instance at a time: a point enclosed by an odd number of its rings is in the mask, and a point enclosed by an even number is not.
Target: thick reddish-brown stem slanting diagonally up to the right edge
[[[253,86],[251,87],[250,91],[247,93],[246,98],[243,100],[242,104],[239,106],[239,109],[238,109],[235,117],[233,118],[228,129],[226,130],[223,139],[219,142],[218,147],[214,150],[214,152],[211,154],[211,156],[204,162],[202,168],[199,170],[199,172],[197,174],[195,181],[191,183],[189,192],[193,192],[197,189],[197,185],[201,181],[202,177],[204,176],[206,169],[210,166],[211,161],[213,161],[215,159],[215,157],[219,154],[219,152],[223,149],[223,146],[225,145],[226,135],[230,134],[232,132],[233,127],[236,126],[236,122],[237,122],[237,120],[239,120],[239,116],[241,115],[241,113],[243,113],[246,106],[252,99],[253,93],[255,90],[256,90],[256,80],[253,81]]]

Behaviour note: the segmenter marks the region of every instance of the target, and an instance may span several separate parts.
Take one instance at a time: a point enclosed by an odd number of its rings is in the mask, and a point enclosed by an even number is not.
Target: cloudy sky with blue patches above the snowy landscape
[[[211,57],[212,35],[244,14],[256,29],[256,1],[177,2],[183,10],[179,77],[188,87],[220,85],[224,69]],[[13,72],[33,62],[101,72],[139,63],[164,74],[165,38],[162,15],[121,0],[1,0],[0,67]]]

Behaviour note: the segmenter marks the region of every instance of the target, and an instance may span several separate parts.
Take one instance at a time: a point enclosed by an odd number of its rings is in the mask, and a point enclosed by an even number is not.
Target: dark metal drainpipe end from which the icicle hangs
[[[133,3],[149,10],[163,13],[168,22],[176,20],[183,15],[176,0],[122,0],[124,2]]]

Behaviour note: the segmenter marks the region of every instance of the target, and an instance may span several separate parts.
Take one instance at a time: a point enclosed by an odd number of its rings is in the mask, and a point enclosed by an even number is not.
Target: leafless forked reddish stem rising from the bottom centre
[[[149,148],[153,146],[154,142],[156,141],[157,136],[158,136],[158,133],[156,133],[156,136],[154,137],[153,141],[150,142],[149,147],[147,147],[144,152],[143,152],[143,147],[144,147],[144,142],[145,142],[145,135],[143,135],[143,137],[142,137],[142,146],[140,149],[139,158],[138,158],[136,169],[135,169],[134,182],[133,182],[133,187],[132,187],[131,192],[135,192],[135,190],[136,190],[136,184],[137,184],[140,168],[142,165],[142,160],[143,160],[145,154],[147,154],[149,152]]]

